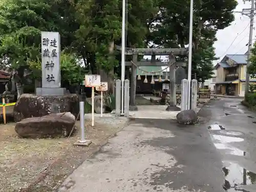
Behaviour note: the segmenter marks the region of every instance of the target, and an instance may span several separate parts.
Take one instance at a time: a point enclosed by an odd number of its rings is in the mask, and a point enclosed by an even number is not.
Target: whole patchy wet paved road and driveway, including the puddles
[[[135,119],[62,183],[59,192],[256,191],[256,115],[212,100],[197,125]]]

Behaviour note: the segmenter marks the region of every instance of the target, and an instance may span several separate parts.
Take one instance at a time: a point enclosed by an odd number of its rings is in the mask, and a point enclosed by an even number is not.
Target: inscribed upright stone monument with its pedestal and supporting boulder
[[[14,106],[14,121],[30,117],[71,112],[79,114],[79,97],[66,94],[60,87],[60,35],[58,32],[41,32],[42,88],[36,88],[36,95],[23,94]]]

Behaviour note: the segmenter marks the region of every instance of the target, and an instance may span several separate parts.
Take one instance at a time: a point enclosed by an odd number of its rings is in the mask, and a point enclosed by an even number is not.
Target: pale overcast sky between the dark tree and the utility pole
[[[242,11],[243,9],[250,7],[250,2],[244,4],[242,0],[238,0],[238,6],[234,11]],[[248,50],[246,44],[249,40],[250,18],[241,13],[234,13],[234,15],[236,18],[231,26],[217,32],[218,41],[215,42],[215,52],[217,57],[221,57],[220,59],[226,54],[244,54]],[[253,42],[255,41],[254,32],[255,30],[253,30]],[[217,61],[215,61],[215,63],[216,62]]]

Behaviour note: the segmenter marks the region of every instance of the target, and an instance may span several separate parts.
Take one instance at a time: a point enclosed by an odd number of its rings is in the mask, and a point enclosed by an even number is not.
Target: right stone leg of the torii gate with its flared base
[[[175,83],[175,64],[170,66],[170,104],[166,111],[180,111],[176,106],[176,83]]]

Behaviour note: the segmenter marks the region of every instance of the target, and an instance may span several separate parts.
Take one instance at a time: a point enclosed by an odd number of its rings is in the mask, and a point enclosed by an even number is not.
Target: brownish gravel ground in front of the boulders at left
[[[75,168],[126,123],[125,118],[96,118],[92,127],[87,120],[86,137],[93,142],[89,147],[73,145],[79,139],[77,131],[70,138],[22,139],[14,131],[15,123],[0,125],[0,191],[56,191]]]

